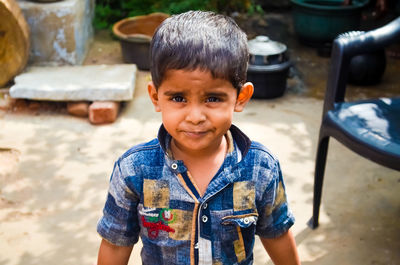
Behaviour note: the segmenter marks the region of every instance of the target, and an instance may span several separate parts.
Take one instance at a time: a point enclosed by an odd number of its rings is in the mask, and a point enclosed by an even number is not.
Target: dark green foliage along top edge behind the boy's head
[[[254,0],[96,0],[94,27],[111,28],[120,19],[153,12],[178,14],[188,10],[210,10],[229,14],[231,12],[258,11]],[[254,11],[252,11],[254,12]]]

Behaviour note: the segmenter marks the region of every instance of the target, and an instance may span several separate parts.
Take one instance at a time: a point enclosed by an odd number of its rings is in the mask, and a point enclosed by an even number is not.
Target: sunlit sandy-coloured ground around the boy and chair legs
[[[302,264],[400,264],[400,173],[335,140],[321,224],[307,227],[329,59],[289,43],[297,74],[288,80],[287,93],[252,100],[234,123],[280,159]],[[120,62],[119,52],[118,43],[99,34],[86,64]],[[398,94],[400,60],[388,63],[380,85],[351,87],[349,97]],[[93,126],[67,115],[63,106],[0,110],[0,265],[96,263],[96,223],[113,162],[132,145],[154,138],[161,122],[147,97],[148,80],[149,72],[139,71],[134,99],[109,125]],[[134,248],[130,264],[140,264],[139,251]],[[272,264],[259,242],[254,254],[255,264]]]

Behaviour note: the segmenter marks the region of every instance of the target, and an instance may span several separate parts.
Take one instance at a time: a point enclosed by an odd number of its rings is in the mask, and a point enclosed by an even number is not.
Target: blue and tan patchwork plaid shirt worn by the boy
[[[120,246],[143,242],[143,264],[252,264],[255,234],[274,238],[294,223],[277,159],[231,127],[228,154],[200,196],[171,136],[135,146],[114,165],[97,231]],[[206,165],[205,165],[206,166]]]

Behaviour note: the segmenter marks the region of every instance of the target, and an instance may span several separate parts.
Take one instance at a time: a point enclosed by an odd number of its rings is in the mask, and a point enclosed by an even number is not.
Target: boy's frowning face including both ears
[[[246,83],[237,95],[229,81],[214,79],[209,71],[168,70],[158,90],[150,82],[148,91],[174,144],[194,154],[219,146],[253,86]]]

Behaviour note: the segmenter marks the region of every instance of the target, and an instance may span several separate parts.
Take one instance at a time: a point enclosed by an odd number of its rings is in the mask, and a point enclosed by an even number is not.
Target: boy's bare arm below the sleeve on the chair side
[[[300,264],[296,242],[290,230],[277,238],[260,239],[275,265]]]

